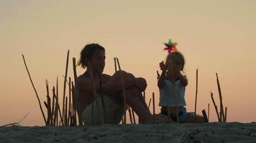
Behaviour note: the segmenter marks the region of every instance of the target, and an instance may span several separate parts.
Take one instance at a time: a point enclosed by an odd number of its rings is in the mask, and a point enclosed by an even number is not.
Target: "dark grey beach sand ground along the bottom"
[[[0,142],[256,142],[256,123],[0,127]]]

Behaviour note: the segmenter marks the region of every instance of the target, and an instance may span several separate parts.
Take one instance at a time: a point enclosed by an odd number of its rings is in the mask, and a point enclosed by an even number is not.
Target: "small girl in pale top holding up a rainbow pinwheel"
[[[173,121],[177,121],[176,112],[178,109],[178,119],[180,123],[185,122],[204,122],[204,117],[196,115],[193,112],[186,111],[185,101],[185,89],[188,85],[188,79],[186,75],[181,74],[183,71],[185,59],[177,49],[175,49],[175,43],[169,41],[168,56],[165,63],[160,62],[160,69],[162,73],[158,77],[157,86],[160,89],[160,102],[161,114],[170,116]],[[173,48],[173,49],[172,49]],[[175,88],[175,89],[174,89]],[[178,96],[178,102],[176,107],[175,92]]]

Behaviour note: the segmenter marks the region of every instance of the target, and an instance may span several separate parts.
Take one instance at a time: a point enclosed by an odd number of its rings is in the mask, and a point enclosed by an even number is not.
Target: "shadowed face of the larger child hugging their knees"
[[[99,73],[103,73],[105,68],[105,59],[105,51],[94,51],[93,56],[91,56],[91,69],[93,71],[99,71]]]

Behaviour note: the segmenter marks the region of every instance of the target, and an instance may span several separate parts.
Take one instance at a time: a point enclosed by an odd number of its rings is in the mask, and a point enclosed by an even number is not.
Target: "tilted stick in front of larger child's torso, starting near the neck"
[[[99,112],[99,117],[100,117],[100,119],[101,119],[101,124],[104,124],[104,119],[102,118],[102,116],[101,116],[101,112],[100,112],[100,110],[99,110],[99,103],[98,103],[98,101],[97,101],[97,92],[96,92],[96,87],[95,87],[95,82],[94,82],[94,78],[93,78],[93,71],[91,70],[91,63],[90,63],[90,61],[89,60],[87,60],[88,62],[88,69],[89,69],[89,72],[90,72],[90,77],[91,77],[91,83],[92,83],[92,86],[93,86],[93,96],[94,96],[94,98],[96,99],[95,101],[96,101],[96,108],[97,108],[97,110],[98,110],[98,112]],[[93,108],[91,108],[91,109],[93,109]],[[93,111],[92,111],[92,113],[93,113]],[[92,116],[93,117],[93,116]],[[93,121],[93,119],[92,119],[92,121]]]

